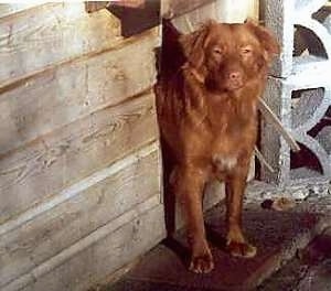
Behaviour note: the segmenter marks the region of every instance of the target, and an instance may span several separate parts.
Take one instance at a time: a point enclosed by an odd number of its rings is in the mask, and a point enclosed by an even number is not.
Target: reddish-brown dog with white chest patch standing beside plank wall
[[[190,269],[209,272],[213,258],[202,193],[212,179],[225,182],[228,251],[241,257],[256,254],[243,235],[242,204],[256,142],[257,100],[279,46],[265,28],[252,22],[211,21],[180,35],[179,42],[183,65],[172,76],[163,69],[157,85],[159,125],[175,161],[170,180],[185,213]]]

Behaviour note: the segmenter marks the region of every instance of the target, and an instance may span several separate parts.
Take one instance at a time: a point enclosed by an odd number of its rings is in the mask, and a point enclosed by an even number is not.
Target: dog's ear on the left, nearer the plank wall
[[[189,34],[183,34],[179,39],[188,62],[199,72],[203,71],[205,57],[204,48],[206,45],[207,35],[211,26],[215,23],[215,21],[211,20],[203,24],[199,30]]]

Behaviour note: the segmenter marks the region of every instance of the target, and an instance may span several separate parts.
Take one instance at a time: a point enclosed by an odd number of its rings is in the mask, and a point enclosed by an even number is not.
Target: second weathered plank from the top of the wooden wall
[[[0,94],[0,154],[154,83],[156,34],[62,65]],[[139,52],[139,57],[130,57]]]

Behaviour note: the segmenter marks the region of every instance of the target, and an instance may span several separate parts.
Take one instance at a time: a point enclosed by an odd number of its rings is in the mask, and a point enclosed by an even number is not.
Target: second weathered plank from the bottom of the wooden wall
[[[124,169],[0,236],[0,288],[139,203],[160,198],[158,148],[127,160]]]

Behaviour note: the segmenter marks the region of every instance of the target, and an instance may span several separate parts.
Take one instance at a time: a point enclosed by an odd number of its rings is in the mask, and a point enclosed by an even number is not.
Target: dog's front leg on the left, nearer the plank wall
[[[207,273],[214,268],[214,263],[205,238],[202,209],[206,175],[203,170],[191,165],[179,166],[175,175],[175,194],[185,215],[188,239],[192,251],[190,270]]]

